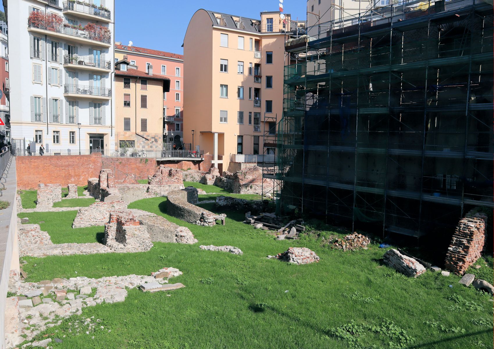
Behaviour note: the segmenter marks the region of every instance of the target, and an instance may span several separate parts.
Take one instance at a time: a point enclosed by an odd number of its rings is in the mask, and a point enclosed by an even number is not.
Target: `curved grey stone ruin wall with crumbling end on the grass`
[[[221,220],[221,224],[225,224],[225,214],[216,215],[196,206],[197,203],[196,188],[187,187],[183,190],[171,191],[166,200],[168,215],[197,225],[212,226],[216,224],[216,220]]]

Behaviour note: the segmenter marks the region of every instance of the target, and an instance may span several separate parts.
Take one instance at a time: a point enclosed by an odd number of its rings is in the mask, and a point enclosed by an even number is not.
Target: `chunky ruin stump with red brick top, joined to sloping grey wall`
[[[128,211],[111,212],[103,244],[113,252],[145,252],[153,247],[145,225]]]

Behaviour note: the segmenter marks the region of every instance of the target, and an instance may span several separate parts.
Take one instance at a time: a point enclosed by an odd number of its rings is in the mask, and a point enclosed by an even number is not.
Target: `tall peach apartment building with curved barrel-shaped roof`
[[[274,154],[263,146],[282,116],[288,28],[279,11],[260,17],[200,9],[185,34],[184,140],[212,154],[220,172],[237,169],[237,154]]]

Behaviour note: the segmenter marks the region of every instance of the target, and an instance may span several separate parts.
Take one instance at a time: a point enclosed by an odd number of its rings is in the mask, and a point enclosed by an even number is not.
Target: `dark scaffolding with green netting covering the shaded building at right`
[[[278,212],[419,237],[492,208],[493,5],[392,1],[326,28],[285,46]]]

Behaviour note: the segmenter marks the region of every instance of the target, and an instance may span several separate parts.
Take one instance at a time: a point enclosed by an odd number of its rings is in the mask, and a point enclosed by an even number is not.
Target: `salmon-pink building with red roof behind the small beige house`
[[[153,66],[155,74],[170,79],[169,92],[163,93],[163,137],[165,143],[175,143],[177,147],[183,140],[183,56],[177,53],[159,51],[151,48],[115,44],[115,58],[121,60],[127,56],[130,65],[147,72],[148,65]]]

